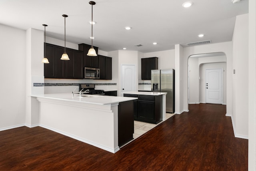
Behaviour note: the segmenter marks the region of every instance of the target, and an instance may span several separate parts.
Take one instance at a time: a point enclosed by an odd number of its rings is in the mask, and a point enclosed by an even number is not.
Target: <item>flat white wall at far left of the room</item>
[[[26,32],[0,24],[0,131],[25,123]]]

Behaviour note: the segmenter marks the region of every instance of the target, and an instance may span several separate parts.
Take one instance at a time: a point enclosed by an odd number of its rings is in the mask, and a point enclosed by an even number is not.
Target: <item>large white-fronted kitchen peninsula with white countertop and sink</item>
[[[118,113],[118,111],[126,111],[124,117],[130,115],[132,118],[130,119],[132,128],[129,129],[129,137],[126,141],[133,139],[132,100],[137,98],[104,95],[80,97],[78,94],[72,96],[72,93],[50,93],[32,97],[39,101],[41,127],[115,153],[120,147],[118,133],[124,132],[118,130],[119,117],[124,112]],[[128,105],[128,109],[120,110],[119,105],[122,107]]]

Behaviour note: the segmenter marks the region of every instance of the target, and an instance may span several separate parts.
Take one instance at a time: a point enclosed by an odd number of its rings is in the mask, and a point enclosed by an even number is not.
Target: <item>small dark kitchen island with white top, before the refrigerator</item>
[[[166,94],[164,92],[130,91],[122,92],[124,97],[134,100],[134,120],[159,123],[166,120]]]

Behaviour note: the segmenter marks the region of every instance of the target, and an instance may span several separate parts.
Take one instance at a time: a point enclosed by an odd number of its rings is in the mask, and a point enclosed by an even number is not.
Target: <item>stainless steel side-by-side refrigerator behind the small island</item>
[[[166,112],[174,113],[174,69],[151,70],[151,91],[166,92]]]

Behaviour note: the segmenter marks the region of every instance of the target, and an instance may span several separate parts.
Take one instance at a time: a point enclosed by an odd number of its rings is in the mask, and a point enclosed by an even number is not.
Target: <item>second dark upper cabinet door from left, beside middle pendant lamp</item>
[[[65,78],[65,63],[66,61],[61,60],[61,56],[64,53],[64,47],[55,46],[55,78]]]

